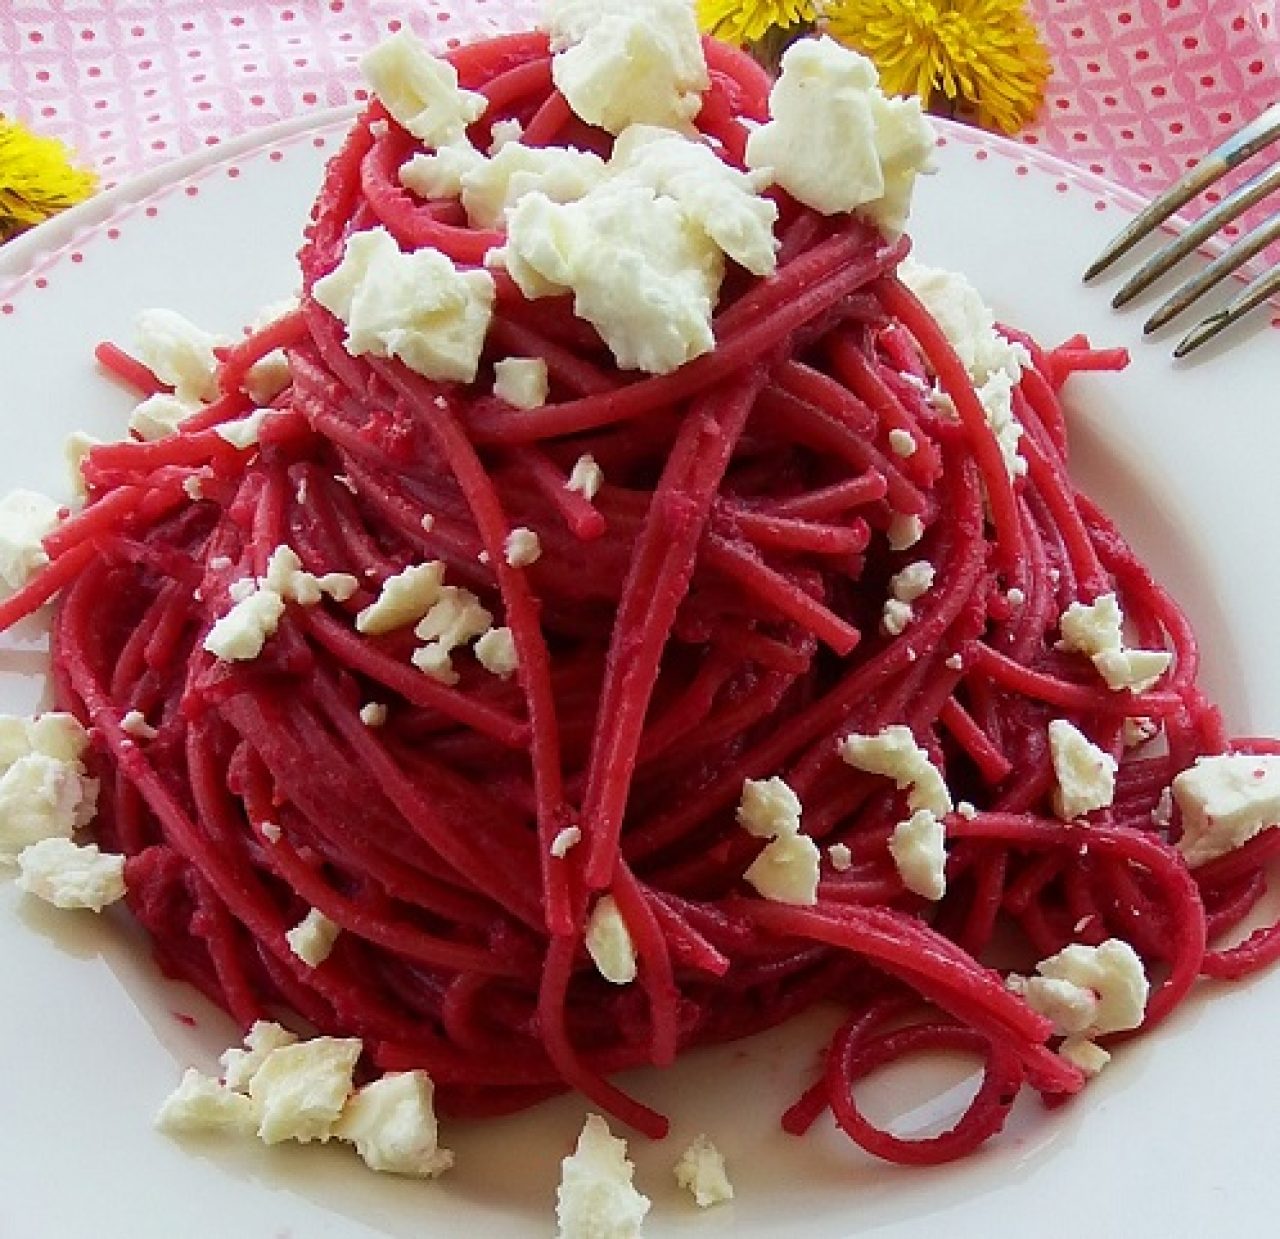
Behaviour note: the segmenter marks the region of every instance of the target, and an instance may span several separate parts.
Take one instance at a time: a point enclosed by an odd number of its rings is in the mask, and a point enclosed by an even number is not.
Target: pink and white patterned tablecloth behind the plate
[[[0,111],[110,184],[257,125],[361,97],[364,49],[532,24],[540,0],[6,0]],[[1033,0],[1055,74],[1024,141],[1139,193],[1280,97],[1280,0]]]

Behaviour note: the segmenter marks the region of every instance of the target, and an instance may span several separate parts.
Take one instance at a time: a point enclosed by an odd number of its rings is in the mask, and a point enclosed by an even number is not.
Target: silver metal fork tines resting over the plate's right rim
[[[1121,255],[1128,253],[1139,241],[1155,232],[1170,215],[1185,206],[1193,197],[1225,177],[1231,169],[1239,168],[1272,142],[1280,141],[1280,104],[1272,104],[1257,120],[1247,124],[1228,138],[1221,146],[1208,152],[1180,180],[1170,186],[1155,202],[1134,219],[1098,255],[1093,265],[1084,273],[1085,280],[1105,271]],[[1219,229],[1226,227],[1251,206],[1261,202],[1280,188],[1280,164],[1260,172],[1238,189],[1229,193],[1211,211],[1207,211],[1192,227],[1175,237],[1142,264],[1130,279],[1111,298],[1117,310],[1128,305],[1140,292],[1149,288],[1161,275],[1171,270],[1187,255],[1199,247]],[[1202,271],[1187,280],[1174,294],[1156,310],[1143,324],[1143,332],[1151,334],[1175,319],[1208,289],[1226,279],[1249,259],[1261,253],[1272,242],[1280,239],[1280,211],[1260,224],[1253,232],[1236,241]],[[1175,357],[1185,357],[1193,348],[1211,340],[1233,323],[1243,319],[1256,306],[1280,293],[1280,266],[1265,271],[1253,283],[1221,310],[1198,323],[1174,349]]]

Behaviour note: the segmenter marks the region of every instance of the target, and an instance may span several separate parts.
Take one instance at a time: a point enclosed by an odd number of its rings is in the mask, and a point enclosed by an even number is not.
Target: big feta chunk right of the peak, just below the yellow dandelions
[[[860,210],[900,233],[933,128],[918,99],[890,99],[876,65],[833,38],[801,38],[782,56],[768,124],[746,143],[750,168],[769,168],[792,197],[837,215]]]

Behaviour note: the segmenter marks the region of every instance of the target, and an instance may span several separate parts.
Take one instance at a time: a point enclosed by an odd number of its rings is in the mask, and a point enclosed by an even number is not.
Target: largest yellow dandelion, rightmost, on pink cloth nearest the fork
[[[876,61],[890,95],[941,95],[1016,133],[1044,99],[1048,52],[1021,0],[831,0],[827,29]]]

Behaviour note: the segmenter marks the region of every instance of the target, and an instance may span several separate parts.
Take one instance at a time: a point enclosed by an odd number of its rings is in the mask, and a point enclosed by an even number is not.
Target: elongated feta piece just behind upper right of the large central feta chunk
[[[675,198],[685,215],[753,275],[777,269],[778,209],[760,191],[768,173],[742,173],[705,142],[671,129],[632,125],[618,136],[609,174]]]

